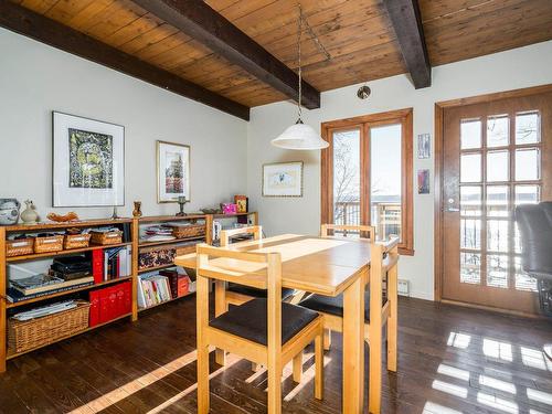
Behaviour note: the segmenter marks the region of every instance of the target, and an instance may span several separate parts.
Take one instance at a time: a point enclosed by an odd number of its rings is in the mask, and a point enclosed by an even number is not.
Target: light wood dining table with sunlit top
[[[362,413],[364,401],[364,284],[369,279],[370,241],[283,234],[231,244],[241,252],[282,255],[282,285],[323,296],[343,295],[342,412]],[[236,263],[212,261],[217,267],[236,269]],[[195,268],[195,254],[179,256],[174,264]],[[241,269],[242,270],[242,269]],[[259,269],[244,268],[244,273]],[[215,300],[217,300],[215,298]],[[371,338],[372,341],[381,338]]]

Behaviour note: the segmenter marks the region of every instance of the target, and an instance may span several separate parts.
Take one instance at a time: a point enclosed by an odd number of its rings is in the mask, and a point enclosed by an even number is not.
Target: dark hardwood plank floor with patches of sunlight
[[[1,413],[194,413],[195,302],[184,298],[9,362]],[[383,413],[552,413],[552,321],[401,298],[399,372],[384,373]],[[286,367],[284,412],[340,412],[341,339],[326,354],[326,395],[312,397],[314,354],[304,382]],[[368,361],[368,359],[367,359]],[[266,413],[266,373],[211,353],[213,413]],[[368,362],[367,370],[368,372]]]

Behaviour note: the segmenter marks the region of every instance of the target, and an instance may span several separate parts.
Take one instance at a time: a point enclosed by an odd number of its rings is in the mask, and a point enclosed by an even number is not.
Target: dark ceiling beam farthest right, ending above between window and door
[[[425,45],[417,0],[383,0],[395,30],[414,87],[432,86],[432,66]]]

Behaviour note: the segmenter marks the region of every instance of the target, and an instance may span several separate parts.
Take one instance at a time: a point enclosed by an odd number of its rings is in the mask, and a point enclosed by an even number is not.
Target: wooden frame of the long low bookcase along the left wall
[[[157,215],[157,216],[145,216],[140,219],[117,219],[117,220],[83,220],[78,222],[70,222],[70,223],[40,223],[36,225],[11,225],[11,226],[0,226],[0,373],[6,371],[6,362],[7,360],[10,360],[12,358],[17,358],[19,355],[22,355],[28,352],[32,352],[36,349],[46,347],[51,343],[60,342],[65,339],[68,339],[71,337],[74,337],[76,335],[81,335],[84,332],[88,332],[93,329],[102,328],[108,323],[115,322],[117,320],[131,317],[132,321],[136,321],[138,319],[138,312],[151,309],[153,307],[158,307],[160,305],[168,304],[173,300],[178,300],[181,298],[184,298],[187,296],[193,295],[194,293],[189,293],[184,296],[181,296],[179,298],[170,299],[168,301],[148,307],[148,308],[142,308],[138,309],[138,300],[137,300],[137,295],[138,295],[138,279],[139,279],[139,274],[146,273],[146,272],[155,272],[155,270],[160,270],[162,268],[168,268],[168,267],[173,267],[174,264],[168,264],[164,266],[159,266],[155,268],[148,268],[148,269],[138,269],[138,254],[140,252],[140,248],[145,247],[151,247],[151,246],[162,246],[164,244],[178,244],[178,243],[183,243],[183,242],[191,242],[191,241],[201,241],[204,240],[205,243],[212,244],[212,229],[213,229],[213,217],[216,219],[231,219],[231,217],[243,217],[243,216],[253,216],[253,223],[257,224],[258,223],[258,215],[256,212],[248,212],[248,213],[237,213],[237,214],[190,214],[185,216],[173,216],[173,215]],[[185,237],[185,238],[177,238],[177,240],[171,240],[171,241],[161,241],[161,242],[139,242],[139,233],[140,233],[140,225],[144,224],[153,224],[153,223],[168,223],[168,222],[174,222],[174,221],[188,221],[188,220],[204,220],[205,222],[205,236],[198,236],[198,237]],[[65,229],[70,227],[98,227],[98,226],[107,226],[107,225],[120,225],[120,224],[130,224],[130,241],[120,243],[120,244],[114,244],[114,245],[91,245],[89,247],[84,247],[84,248],[73,248],[73,250],[64,250],[61,252],[52,252],[52,253],[40,253],[40,254],[30,254],[30,255],[22,255],[22,256],[13,256],[13,257],[7,257],[6,256],[6,240],[7,236],[13,233],[38,233],[38,232],[44,232],[44,231],[63,231]],[[20,263],[20,262],[30,262],[30,261],[39,261],[39,259],[45,259],[45,258],[53,258],[56,256],[64,256],[64,255],[72,255],[72,254],[78,254],[83,252],[91,252],[94,250],[98,248],[112,248],[112,247],[119,247],[119,246],[128,246],[130,245],[132,248],[132,273],[130,276],[127,277],[120,277],[117,279],[112,279],[112,280],[106,280],[102,282],[99,284],[93,284],[89,286],[83,286],[79,288],[75,289],[68,289],[64,291],[57,291],[53,293],[51,295],[45,295],[41,296],[38,298],[33,299],[28,299],[28,300],[22,300],[19,302],[8,302],[7,297],[6,297],[6,291],[8,287],[8,273],[7,273],[7,267],[9,264],[12,263]],[[96,288],[100,288],[107,285],[113,285],[117,283],[123,283],[131,280],[132,283],[132,308],[131,311],[123,315],[118,318],[112,319],[105,323],[96,325],[94,327],[88,327],[87,329],[83,329],[82,331],[78,331],[74,335],[59,338],[54,342],[47,343],[43,347],[36,347],[30,350],[26,350],[24,352],[13,352],[12,350],[8,349],[8,341],[7,341],[7,329],[8,329],[8,309],[21,307],[24,305],[31,305],[31,304],[36,304],[39,305],[41,301],[56,298],[56,297],[62,297],[66,295],[72,295],[75,293],[79,291],[86,291],[86,290],[92,290]]]

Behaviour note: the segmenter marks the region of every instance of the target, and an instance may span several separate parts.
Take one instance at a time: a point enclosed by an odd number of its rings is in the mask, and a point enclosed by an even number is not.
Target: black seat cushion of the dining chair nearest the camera
[[[213,328],[266,346],[267,308],[265,298],[256,298],[230,310],[209,322]],[[316,319],[318,312],[297,305],[282,302],[282,344]]]

